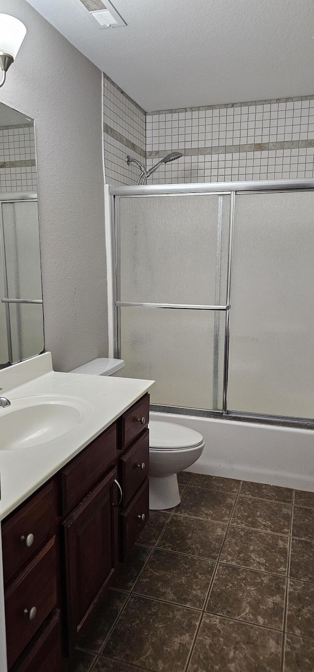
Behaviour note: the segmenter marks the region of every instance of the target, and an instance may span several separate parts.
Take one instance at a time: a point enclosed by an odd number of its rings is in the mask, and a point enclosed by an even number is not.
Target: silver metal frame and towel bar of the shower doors
[[[112,269],[114,273],[114,357],[120,358],[120,308],[122,306],[138,306],[141,308],[184,308],[194,310],[221,310],[225,312],[225,351],[223,364],[223,410],[206,411],[204,409],[195,409],[188,407],[167,406],[153,404],[151,410],[160,413],[175,413],[183,415],[192,415],[196,417],[218,417],[227,418],[234,421],[251,421],[257,423],[269,423],[271,425],[286,425],[292,427],[303,427],[314,429],[314,419],[292,418],[278,415],[259,415],[256,413],[239,413],[228,409],[228,372],[229,372],[229,339],[230,339],[230,319],[231,319],[231,290],[232,290],[232,266],[233,266],[233,235],[235,224],[235,201],[237,193],[256,194],[256,193],[282,193],[314,191],[314,179],[271,179],[258,181],[239,181],[239,182],[211,182],[211,183],[192,183],[192,184],[158,184],[146,186],[110,186],[110,207],[111,207],[111,226],[112,226]],[[230,220],[229,220],[229,249],[228,249],[228,269],[227,269],[227,300],[225,305],[219,306],[201,306],[191,304],[153,304],[139,302],[121,302],[120,301],[120,197],[139,198],[167,195],[214,195],[219,196],[230,194]]]

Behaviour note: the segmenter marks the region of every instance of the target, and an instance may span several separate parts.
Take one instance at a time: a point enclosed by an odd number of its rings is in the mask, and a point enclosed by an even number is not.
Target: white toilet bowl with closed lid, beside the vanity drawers
[[[149,508],[171,509],[180,504],[177,474],[202,455],[202,434],[183,425],[149,423]]]

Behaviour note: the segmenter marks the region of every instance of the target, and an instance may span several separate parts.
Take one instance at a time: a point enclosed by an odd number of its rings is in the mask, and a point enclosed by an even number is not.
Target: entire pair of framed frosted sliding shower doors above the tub
[[[169,411],[314,419],[314,181],[110,193],[124,375]]]

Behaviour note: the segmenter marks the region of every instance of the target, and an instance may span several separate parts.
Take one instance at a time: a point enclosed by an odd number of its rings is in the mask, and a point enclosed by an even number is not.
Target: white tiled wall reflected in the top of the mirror
[[[36,192],[34,126],[0,127],[0,192]]]

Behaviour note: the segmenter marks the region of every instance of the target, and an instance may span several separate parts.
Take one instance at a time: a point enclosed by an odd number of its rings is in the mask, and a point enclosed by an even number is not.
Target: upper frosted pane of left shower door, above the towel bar
[[[225,304],[229,194],[119,202],[121,301]]]

